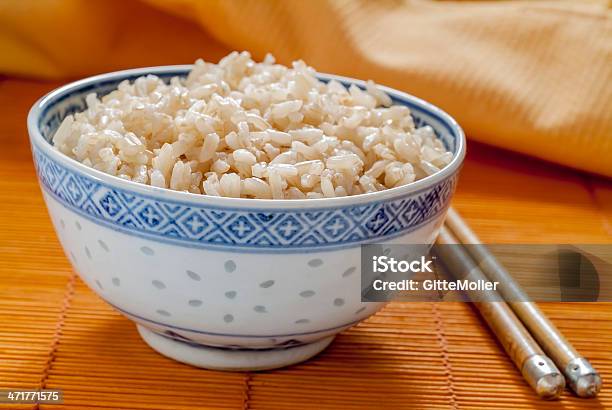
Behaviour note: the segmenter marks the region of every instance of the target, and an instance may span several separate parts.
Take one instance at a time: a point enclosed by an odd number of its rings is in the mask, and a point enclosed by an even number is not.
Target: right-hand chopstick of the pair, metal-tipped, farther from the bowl
[[[446,226],[465,247],[467,252],[479,261],[482,272],[492,282],[499,282],[498,290],[521,319],[542,349],[563,371],[570,388],[579,397],[594,397],[601,389],[601,376],[589,361],[581,356],[565,339],[561,332],[528,297],[512,275],[480,242],[478,236],[463,221],[453,208],[446,216]]]

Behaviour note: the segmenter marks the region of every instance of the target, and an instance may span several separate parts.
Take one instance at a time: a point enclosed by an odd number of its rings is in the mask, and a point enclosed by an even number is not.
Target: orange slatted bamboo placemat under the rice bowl
[[[24,124],[53,86],[0,80],[0,388],[64,391],[41,409],[612,408],[612,304],[543,305],[601,372],[595,400],[537,399],[459,303],[389,304],[276,371],[207,371],[153,352],[72,273],[48,220]],[[455,200],[484,241],[506,243],[609,243],[611,204],[609,181],[475,144]]]

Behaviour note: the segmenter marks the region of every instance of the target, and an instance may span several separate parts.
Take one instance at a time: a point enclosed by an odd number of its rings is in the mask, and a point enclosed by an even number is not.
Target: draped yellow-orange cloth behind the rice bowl
[[[405,90],[468,137],[612,176],[606,1],[0,1],[0,72],[75,78],[230,50]]]

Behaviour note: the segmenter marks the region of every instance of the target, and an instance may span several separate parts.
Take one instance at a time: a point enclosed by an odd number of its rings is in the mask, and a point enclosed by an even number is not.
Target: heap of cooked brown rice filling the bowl
[[[302,61],[293,68],[233,52],[198,60],[186,79],[124,81],[68,116],[55,147],[119,178],[177,191],[303,199],[405,185],[452,159],[431,127],[366,90],[325,84]]]

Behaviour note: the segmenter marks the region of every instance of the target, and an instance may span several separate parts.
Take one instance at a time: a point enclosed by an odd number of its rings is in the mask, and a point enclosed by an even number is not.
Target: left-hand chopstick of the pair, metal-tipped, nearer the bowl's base
[[[457,238],[446,227],[440,229],[437,242],[440,245],[458,243]],[[488,281],[463,247],[438,246],[436,251],[454,276],[470,281]],[[476,295],[475,292],[466,291],[473,301],[483,299],[482,294]],[[499,299],[493,290],[484,292],[492,292],[484,300]],[[504,302],[473,303],[537,395],[545,399],[559,397],[565,387],[565,379],[508,305]]]

